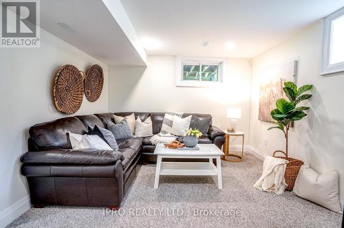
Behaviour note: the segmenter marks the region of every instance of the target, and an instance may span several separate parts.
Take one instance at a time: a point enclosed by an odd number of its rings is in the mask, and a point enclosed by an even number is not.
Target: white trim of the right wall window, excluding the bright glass
[[[344,15],[344,8],[326,16],[323,21],[323,52],[321,55],[321,75],[331,73],[338,73],[344,71],[344,62],[337,62],[330,65],[330,45],[331,45],[331,32],[332,21],[339,16]]]

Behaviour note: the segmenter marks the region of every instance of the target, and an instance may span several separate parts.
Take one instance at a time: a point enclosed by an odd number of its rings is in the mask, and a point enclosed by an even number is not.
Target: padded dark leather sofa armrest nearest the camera
[[[44,163],[65,165],[111,165],[123,161],[124,156],[115,150],[70,150],[48,149],[26,152],[21,156],[22,163]]]

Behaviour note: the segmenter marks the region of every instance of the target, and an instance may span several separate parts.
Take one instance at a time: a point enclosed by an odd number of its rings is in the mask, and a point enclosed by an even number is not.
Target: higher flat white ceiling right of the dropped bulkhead
[[[149,55],[252,58],[344,6],[343,0],[121,0]],[[210,41],[208,47],[200,47]],[[225,48],[228,41],[235,49]]]

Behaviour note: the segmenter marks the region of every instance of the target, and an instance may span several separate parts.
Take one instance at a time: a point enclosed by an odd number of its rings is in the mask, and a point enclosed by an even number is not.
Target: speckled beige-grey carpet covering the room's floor
[[[211,176],[162,176],[153,189],[155,166],[142,166],[117,214],[96,207],[30,209],[8,227],[341,227],[341,214],[286,192],[252,187],[262,161],[222,161],[223,190]]]

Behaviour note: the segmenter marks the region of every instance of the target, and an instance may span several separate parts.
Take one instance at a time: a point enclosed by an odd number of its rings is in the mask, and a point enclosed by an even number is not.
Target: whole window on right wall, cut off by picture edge
[[[344,8],[325,17],[321,75],[344,71]]]

